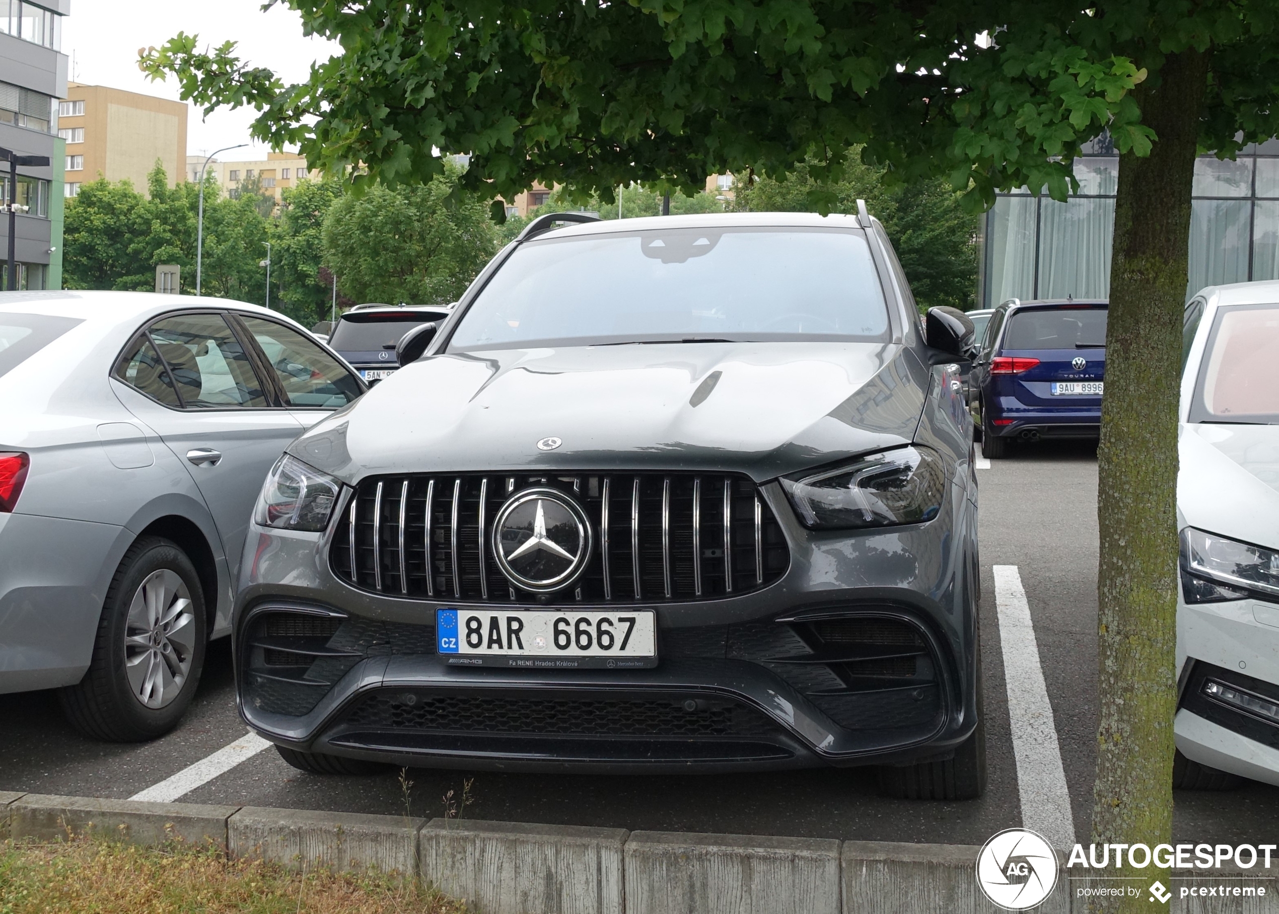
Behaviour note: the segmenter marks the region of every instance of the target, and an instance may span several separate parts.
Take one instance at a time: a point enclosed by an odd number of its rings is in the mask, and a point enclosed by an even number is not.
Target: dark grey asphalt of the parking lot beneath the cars
[[[980,800],[932,803],[879,795],[870,770],[715,776],[514,775],[412,770],[320,777],[266,749],[183,795],[189,803],[443,816],[449,791],[466,818],[632,830],[982,844],[1022,825],[1022,791],[991,573],[1017,566],[1039,644],[1069,791],[1076,840],[1088,840],[1096,739],[1096,449],[1019,447],[978,470],[982,657],[990,784]],[[1014,694],[1018,694],[1014,689]],[[246,734],[235,713],[229,643],[211,646],[183,724],[150,744],[95,743],[61,717],[52,693],[0,695],[0,790],[125,799]],[[469,782],[469,787],[467,784]],[[1027,790],[1033,796],[1033,790]],[[1064,802],[1064,800],[1063,800]],[[1179,841],[1273,841],[1279,787],[1175,794]]]

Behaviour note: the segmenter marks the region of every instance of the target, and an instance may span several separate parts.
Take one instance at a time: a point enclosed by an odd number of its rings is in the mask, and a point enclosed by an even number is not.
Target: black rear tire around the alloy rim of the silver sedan
[[[124,644],[134,594],[156,571],[171,571],[182,579],[194,619],[189,623],[189,669],[175,697],[162,707],[147,707],[130,688]],[[67,720],[86,736],[110,743],[141,743],[173,730],[200,685],[208,639],[207,619],[200,575],[187,554],[160,537],[139,538],[124,554],[107,588],[88,671],[79,683],[58,693]]]

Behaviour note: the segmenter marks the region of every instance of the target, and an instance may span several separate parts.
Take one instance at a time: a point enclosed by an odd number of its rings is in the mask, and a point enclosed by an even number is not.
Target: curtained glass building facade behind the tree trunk
[[[1079,192],[1064,203],[1000,194],[986,213],[978,302],[1106,298],[1119,157],[1095,141],[1074,162]],[[1187,298],[1206,285],[1279,279],[1279,139],[1236,161],[1195,162]]]

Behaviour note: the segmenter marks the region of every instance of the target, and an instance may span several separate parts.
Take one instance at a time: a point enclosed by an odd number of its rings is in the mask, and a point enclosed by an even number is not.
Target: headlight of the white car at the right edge
[[[1279,552],[1187,527],[1182,531],[1182,591],[1187,603],[1252,596],[1279,602]]]

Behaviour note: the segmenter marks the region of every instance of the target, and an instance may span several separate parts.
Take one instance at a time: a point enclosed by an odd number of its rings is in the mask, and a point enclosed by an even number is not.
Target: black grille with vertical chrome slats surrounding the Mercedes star
[[[715,600],[765,587],[789,564],[781,528],[746,477],[400,474],[359,484],[338,522],[334,574],[408,600],[530,603],[535,594],[512,588],[491,554],[498,510],[530,486],[577,499],[600,543],[551,603]]]

